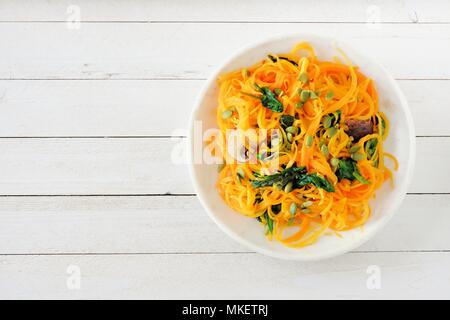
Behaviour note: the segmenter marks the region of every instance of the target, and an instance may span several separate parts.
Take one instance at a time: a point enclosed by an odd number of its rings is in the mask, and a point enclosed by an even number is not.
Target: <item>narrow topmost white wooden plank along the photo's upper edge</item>
[[[325,0],[314,5],[301,1],[10,1],[2,5],[0,21],[65,21],[71,5],[80,8],[83,21],[295,21],[295,22],[449,22],[447,1]],[[199,9],[201,8],[201,10]],[[68,12],[69,10],[69,12]]]

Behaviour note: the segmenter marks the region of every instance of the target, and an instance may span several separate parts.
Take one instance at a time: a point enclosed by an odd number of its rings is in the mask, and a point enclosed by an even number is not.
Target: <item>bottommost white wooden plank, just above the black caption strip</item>
[[[0,298],[448,299],[449,268],[448,253],[1,256]]]

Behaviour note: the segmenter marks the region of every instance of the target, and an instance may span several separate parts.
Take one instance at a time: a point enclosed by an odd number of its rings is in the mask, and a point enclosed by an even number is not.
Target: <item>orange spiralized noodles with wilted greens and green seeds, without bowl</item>
[[[303,42],[218,79],[218,192],[289,247],[364,225],[392,179],[385,158],[397,167],[374,81],[342,59],[321,61]]]

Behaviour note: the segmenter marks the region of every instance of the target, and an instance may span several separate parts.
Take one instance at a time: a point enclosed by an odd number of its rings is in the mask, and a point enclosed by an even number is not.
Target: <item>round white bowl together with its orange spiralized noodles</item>
[[[415,159],[392,76],[340,41],[250,45],[206,82],[192,113],[198,198],[251,250],[312,261],[353,250],[393,216]]]

